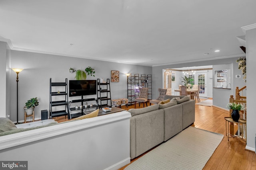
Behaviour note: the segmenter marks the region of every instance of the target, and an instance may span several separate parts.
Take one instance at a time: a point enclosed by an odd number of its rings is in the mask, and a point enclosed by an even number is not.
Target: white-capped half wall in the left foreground
[[[117,170],[130,163],[128,111],[0,137],[1,161],[30,170]]]

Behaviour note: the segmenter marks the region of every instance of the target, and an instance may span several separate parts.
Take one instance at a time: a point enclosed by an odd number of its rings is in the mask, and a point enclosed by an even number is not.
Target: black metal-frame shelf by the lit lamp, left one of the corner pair
[[[135,99],[139,97],[139,86],[140,86],[140,79],[139,74],[130,74],[127,76],[127,98],[128,104],[134,104]]]

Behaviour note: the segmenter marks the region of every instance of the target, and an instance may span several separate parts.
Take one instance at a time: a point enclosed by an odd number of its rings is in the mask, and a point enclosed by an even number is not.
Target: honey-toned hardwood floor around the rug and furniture
[[[205,99],[201,99],[205,100]],[[149,104],[148,104],[149,106]],[[143,107],[141,105],[140,107]],[[123,109],[134,108],[134,105]],[[138,105],[136,108],[139,108]],[[208,131],[221,133],[224,135],[220,145],[208,160],[203,170],[256,170],[255,152],[245,150],[246,143],[238,138],[231,138],[228,141],[225,128],[224,117],[228,117],[229,112],[216,107],[196,105],[196,117],[192,126]],[[67,118],[58,117],[58,122],[67,121]],[[134,158],[131,160],[133,162]],[[125,167],[120,168],[123,170]]]

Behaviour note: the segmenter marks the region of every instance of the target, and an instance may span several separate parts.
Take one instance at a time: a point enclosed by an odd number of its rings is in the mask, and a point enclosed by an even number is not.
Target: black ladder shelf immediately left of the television
[[[65,88],[63,91],[57,91],[57,87]],[[62,96],[63,100],[59,100],[59,97]],[[57,99],[58,98],[58,99]],[[65,109],[52,111],[53,107],[62,106]],[[52,117],[65,116],[68,115],[68,119],[70,119],[69,110],[68,110],[68,79],[66,78],[65,82],[52,82],[52,78],[50,78],[50,119]]]

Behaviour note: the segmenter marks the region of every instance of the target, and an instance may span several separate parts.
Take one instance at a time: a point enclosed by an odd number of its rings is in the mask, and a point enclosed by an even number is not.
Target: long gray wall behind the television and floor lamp
[[[152,74],[152,67],[150,66],[138,66],[14,50],[11,50],[10,55],[10,68],[24,68],[24,70],[19,74],[18,82],[18,113],[20,121],[24,120],[23,106],[27,100],[34,97],[38,97],[39,102],[39,106],[35,108],[35,118],[40,119],[41,110],[49,109],[50,78],[52,78],[52,82],[65,82],[65,78],[68,78],[68,80],[74,80],[75,73],[69,72],[70,67],[85,69],[87,66],[91,66],[94,68],[96,71],[95,77],[87,76],[87,80],[96,80],[97,78],[104,78],[104,80],[106,80],[107,78],[110,78],[111,70],[118,70],[120,72],[119,82],[110,82],[112,99],[127,98],[127,77],[125,73]],[[10,68],[8,69],[11,70]],[[16,121],[16,73],[14,71],[11,71],[10,78],[8,78],[8,80],[9,79],[11,82],[10,99],[12,101],[11,120]],[[77,98],[79,99],[79,97]],[[72,97],[71,100],[77,98]],[[96,95],[87,96],[87,98],[96,98]],[[28,117],[28,120],[29,119],[31,118]]]

